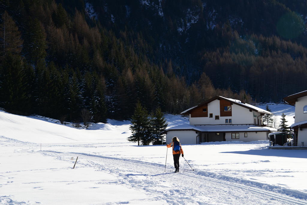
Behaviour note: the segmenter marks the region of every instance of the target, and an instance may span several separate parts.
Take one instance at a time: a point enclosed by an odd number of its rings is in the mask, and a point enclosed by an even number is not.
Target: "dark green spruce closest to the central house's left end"
[[[161,112],[161,108],[157,108],[151,117],[151,140],[154,144],[155,142],[159,142],[164,139],[164,134],[162,133],[167,128],[166,120],[163,116],[163,112]]]

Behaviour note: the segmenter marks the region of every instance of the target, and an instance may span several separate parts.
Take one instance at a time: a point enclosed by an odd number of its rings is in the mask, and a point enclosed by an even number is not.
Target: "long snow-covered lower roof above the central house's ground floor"
[[[250,124],[222,124],[222,125],[201,125],[195,126],[190,124],[181,124],[175,127],[168,128],[166,131],[172,130],[194,130],[200,132],[270,132],[276,129],[268,127],[259,127]]]

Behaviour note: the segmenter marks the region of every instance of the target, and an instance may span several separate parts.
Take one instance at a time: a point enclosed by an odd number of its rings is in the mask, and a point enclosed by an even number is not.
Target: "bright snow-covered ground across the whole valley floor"
[[[294,116],[294,107],[269,106]],[[165,117],[169,127],[187,123]],[[76,129],[0,111],[0,204],[307,204],[307,150],[269,150],[268,141],[183,145],[194,171],[181,157],[175,174],[171,149],[128,142],[129,125]]]

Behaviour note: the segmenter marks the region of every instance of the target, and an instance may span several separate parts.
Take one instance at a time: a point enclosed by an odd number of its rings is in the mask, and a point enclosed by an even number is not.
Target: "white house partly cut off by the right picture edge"
[[[290,126],[294,131],[294,144],[307,144],[307,90],[284,98],[285,103],[295,106],[294,124]]]

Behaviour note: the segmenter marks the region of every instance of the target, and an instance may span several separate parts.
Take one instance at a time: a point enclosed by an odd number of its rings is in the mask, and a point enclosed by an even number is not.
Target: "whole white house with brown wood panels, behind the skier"
[[[239,100],[216,96],[183,112],[190,124],[167,129],[166,143],[174,136],[181,144],[239,140],[250,142],[267,140],[268,133],[276,129],[265,127],[262,116],[273,114]]]

